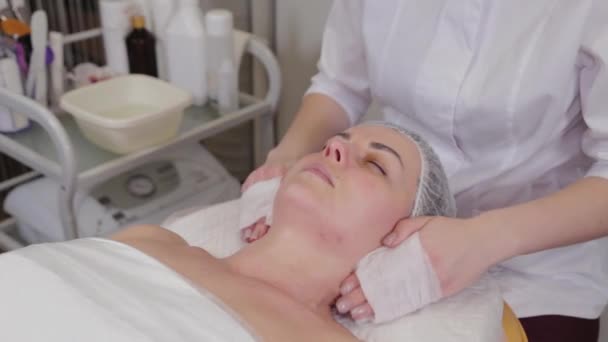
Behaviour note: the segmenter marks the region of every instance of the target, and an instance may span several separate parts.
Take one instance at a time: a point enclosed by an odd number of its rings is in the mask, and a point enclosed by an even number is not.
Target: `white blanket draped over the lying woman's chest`
[[[0,255],[0,341],[254,341],[207,293],[102,239]]]

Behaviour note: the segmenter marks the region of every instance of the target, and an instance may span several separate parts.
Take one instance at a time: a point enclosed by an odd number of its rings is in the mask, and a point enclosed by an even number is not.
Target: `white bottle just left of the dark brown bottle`
[[[117,74],[129,73],[129,59],[125,37],[131,30],[129,16],[133,3],[129,0],[101,0],[101,31],[106,63]]]

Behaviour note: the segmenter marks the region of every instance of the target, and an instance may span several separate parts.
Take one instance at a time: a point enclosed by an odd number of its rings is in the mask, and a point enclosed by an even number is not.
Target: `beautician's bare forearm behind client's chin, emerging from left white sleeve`
[[[281,143],[268,154],[267,162],[296,160],[318,151],[328,138],[349,126],[348,115],[332,98],[306,95]]]

